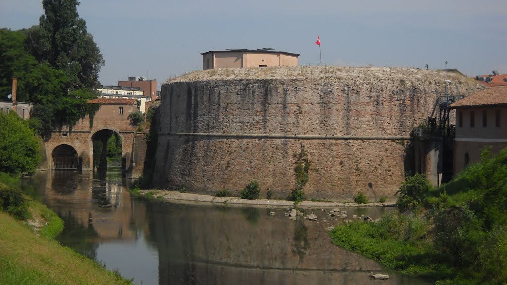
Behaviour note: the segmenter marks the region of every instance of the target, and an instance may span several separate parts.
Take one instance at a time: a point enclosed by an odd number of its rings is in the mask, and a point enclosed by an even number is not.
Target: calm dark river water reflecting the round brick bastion
[[[143,201],[128,183],[111,167],[43,171],[23,188],[65,221],[60,243],[135,284],[428,284],[333,245],[324,228],[341,221],[321,209],[306,210],[313,222],[288,219],[286,208]],[[377,219],[393,209],[343,210]],[[390,279],[372,280],[371,271]]]

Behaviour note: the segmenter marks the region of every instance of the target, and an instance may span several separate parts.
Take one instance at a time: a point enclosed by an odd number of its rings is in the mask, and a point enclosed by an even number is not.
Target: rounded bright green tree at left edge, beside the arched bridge
[[[0,113],[0,171],[31,174],[40,161],[39,142],[28,122],[13,111]]]

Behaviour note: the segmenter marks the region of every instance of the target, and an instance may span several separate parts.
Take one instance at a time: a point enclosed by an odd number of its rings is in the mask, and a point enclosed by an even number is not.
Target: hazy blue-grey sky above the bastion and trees
[[[0,27],[39,23],[41,0],[0,0]],[[274,48],[300,65],[507,73],[505,0],[85,0],[78,13],[105,59],[99,81],[158,81],[202,69],[200,53]]]

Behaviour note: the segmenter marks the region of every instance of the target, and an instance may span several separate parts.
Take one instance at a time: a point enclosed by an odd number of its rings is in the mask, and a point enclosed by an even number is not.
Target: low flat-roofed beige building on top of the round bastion
[[[202,69],[298,66],[299,54],[272,49],[226,50],[201,53]]]

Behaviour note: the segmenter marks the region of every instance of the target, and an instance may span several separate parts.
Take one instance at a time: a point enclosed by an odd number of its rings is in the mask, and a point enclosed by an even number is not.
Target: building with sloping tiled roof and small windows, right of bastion
[[[481,150],[507,148],[507,85],[493,86],[449,106],[456,109],[454,174],[480,161]]]

